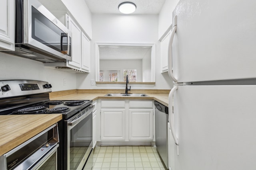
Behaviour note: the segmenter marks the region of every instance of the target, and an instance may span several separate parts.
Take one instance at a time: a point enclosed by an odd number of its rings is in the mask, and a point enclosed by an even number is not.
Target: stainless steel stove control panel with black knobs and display
[[[38,80],[0,81],[0,98],[52,92],[52,85]]]

